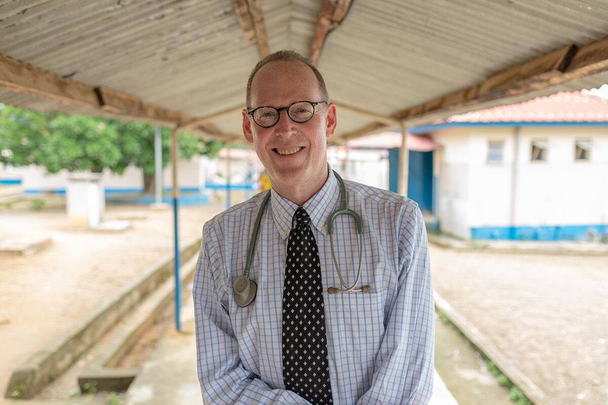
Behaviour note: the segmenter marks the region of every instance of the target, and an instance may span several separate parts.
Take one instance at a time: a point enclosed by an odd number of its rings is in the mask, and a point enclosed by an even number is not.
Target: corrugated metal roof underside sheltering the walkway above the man
[[[230,0],[0,0],[0,53],[49,72],[106,86],[172,111],[201,117],[244,103],[256,44],[247,44]],[[263,1],[271,52],[303,55],[313,38],[317,0]],[[330,97],[390,115],[480,83],[491,73],[608,33],[604,1],[355,0],[320,56]],[[596,87],[608,73],[483,107],[559,90]],[[0,89],[0,101],[89,112]],[[429,115],[411,124],[480,106]],[[339,112],[336,138],[371,123]],[[214,121],[241,134],[241,115]]]

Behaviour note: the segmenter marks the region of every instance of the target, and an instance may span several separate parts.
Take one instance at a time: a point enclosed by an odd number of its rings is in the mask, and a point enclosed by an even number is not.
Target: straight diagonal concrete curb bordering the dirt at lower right
[[[455,310],[437,291],[434,291],[435,305],[480,352],[496,364],[500,371],[523,391],[534,405],[556,405],[533,381],[511,362],[486,336]]]

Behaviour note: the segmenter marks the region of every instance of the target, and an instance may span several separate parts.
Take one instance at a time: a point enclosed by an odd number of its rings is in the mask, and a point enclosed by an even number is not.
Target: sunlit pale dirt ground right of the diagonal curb
[[[608,404],[608,256],[430,247],[433,287],[555,404]]]

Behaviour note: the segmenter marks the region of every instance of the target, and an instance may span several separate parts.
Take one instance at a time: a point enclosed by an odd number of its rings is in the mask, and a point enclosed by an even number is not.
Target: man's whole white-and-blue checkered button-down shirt
[[[335,405],[426,404],[433,390],[435,313],[429,250],[418,205],[398,194],[345,181],[349,207],[363,219],[359,285],[343,289],[331,258],[327,219],[339,208],[340,185],[329,171],[303,207],[319,245],[331,392]],[[232,281],[245,267],[261,201],[261,218],[249,278],[258,285],[249,307],[238,307]],[[297,205],[271,189],[227,209],[202,230],[194,279],[198,377],[204,402],[309,404],[285,389],[282,367],[283,278],[286,245]],[[354,282],[359,237],[353,217],[334,222],[342,277]]]

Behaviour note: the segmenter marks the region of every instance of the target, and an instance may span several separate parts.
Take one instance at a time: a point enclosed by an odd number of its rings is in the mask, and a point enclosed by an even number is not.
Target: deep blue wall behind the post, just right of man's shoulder
[[[397,192],[399,149],[389,149],[389,190]],[[423,211],[433,209],[433,152],[410,151],[407,197]]]

